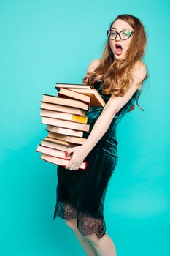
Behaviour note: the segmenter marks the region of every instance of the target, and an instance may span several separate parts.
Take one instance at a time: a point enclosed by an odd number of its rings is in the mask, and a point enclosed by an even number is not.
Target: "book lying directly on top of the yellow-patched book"
[[[46,109],[46,110],[71,113],[71,114],[80,115],[80,116],[85,116],[85,113],[86,113],[85,110],[82,110],[80,108],[73,108],[73,107],[69,107],[69,106],[47,103],[47,102],[42,102],[42,101],[41,101],[41,108]]]

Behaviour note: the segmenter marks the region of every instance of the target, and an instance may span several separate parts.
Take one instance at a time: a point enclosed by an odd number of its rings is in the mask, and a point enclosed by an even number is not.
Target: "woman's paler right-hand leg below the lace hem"
[[[115,244],[107,234],[104,234],[101,238],[98,238],[95,233],[85,237],[94,246],[98,256],[117,256]]]

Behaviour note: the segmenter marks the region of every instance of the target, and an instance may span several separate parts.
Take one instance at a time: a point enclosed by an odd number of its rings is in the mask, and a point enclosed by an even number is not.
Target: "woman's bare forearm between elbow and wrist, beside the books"
[[[112,113],[112,111],[103,111],[98,117],[96,123],[93,126],[93,129],[90,132],[90,135],[88,135],[88,138],[83,144],[87,154],[93,149],[94,146],[96,146],[98,141],[107,132],[107,129],[109,129],[109,125],[111,124],[114,116],[115,113]]]

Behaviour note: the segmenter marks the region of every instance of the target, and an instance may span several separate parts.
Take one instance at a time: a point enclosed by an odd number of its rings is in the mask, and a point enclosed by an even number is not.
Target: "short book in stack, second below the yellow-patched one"
[[[53,125],[48,125],[47,124],[47,130],[50,131],[50,132],[60,133],[60,134],[63,134],[63,135],[83,137],[83,132],[82,131],[77,131],[75,129],[67,129],[67,128],[63,128],[63,127],[54,127]]]

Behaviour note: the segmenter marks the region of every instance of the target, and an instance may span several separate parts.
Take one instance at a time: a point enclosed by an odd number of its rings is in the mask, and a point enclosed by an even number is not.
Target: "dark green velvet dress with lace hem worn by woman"
[[[94,88],[107,102],[110,94],[103,94],[101,86],[101,82],[94,83]],[[134,105],[138,94],[139,90],[116,113],[107,132],[84,159],[84,162],[88,162],[86,170],[73,171],[58,165],[58,184],[53,219],[57,216],[62,219],[77,218],[77,227],[84,236],[96,233],[98,238],[101,238],[106,233],[104,200],[110,178],[117,165],[117,124]],[[90,130],[84,132],[84,138],[88,138],[103,108],[90,106],[90,110],[86,112]]]

